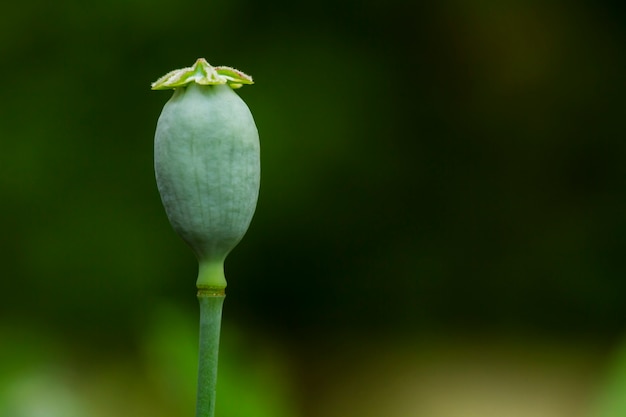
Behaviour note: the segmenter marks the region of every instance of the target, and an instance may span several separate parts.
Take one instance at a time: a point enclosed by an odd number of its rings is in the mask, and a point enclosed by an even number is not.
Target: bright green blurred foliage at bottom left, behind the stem
[[[42,329],[0,331],[0,416],[193,416],[197,379],[195,317],[155,307],[132,352],[93,353]],[[287,356],[267,337],[225,325],[218,417],[295,416]]]

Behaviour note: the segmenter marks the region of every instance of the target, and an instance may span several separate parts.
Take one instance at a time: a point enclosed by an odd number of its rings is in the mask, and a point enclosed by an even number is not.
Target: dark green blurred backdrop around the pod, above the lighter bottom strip
[[[4,6],[0,321],[127,352],[155,305],[195,314],[152,168],[170,93],[149,87],[202,56],[254,77],[239,94],[262,142],[227,320],[290,346],[614,340],[625,41],[610,1]]]

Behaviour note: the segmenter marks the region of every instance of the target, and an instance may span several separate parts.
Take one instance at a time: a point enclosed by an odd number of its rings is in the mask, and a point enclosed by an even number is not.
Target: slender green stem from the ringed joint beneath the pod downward
[[[220,343],[224,288],[198,289],[200,302],[200,346],[198,356],[198,398],[196,417],[215,415],[215,386]]]

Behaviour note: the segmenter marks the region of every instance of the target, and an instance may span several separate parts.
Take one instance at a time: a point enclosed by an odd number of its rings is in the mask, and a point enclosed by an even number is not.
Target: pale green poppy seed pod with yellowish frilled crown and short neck
[[[154,169],[167,217],[196,254],[198,288],[224,288],[224,260],[246,233],[259,194],[259,135],[232,90],[252,84],[199,59],[157,80],[174,88],[154,139]]]

